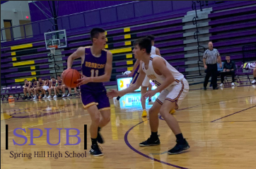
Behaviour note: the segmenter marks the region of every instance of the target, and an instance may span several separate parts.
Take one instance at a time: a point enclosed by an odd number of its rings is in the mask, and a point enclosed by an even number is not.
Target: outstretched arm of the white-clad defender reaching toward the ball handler
[[[139,69],[139,77],[137,78],[136,82],[132,85],[130,85],[128,88],[122,90],[122,91],[115,91],[115,90],[110,90],[110,92],[107,93],[107,97],[109,98],[114,98],[117,96],[122,97],[123,95],[127,93],[131,93],[133,91],[136,91],[138,89],[142,82],[144,81],[146,74],[144,71],[142,71],[142,68]]]

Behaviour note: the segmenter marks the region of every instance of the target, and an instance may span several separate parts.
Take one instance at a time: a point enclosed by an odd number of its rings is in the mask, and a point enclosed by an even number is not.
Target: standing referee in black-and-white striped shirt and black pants
[[[206,69],[206,76],[204,79],[204,91],[206,91],[206,86],[208,84],[209,78],[211,76],[211,82],[213,89],[219,89],[217,88],[217,74],[218,74],[218,67],[216,62],[219,62],[220,67],[222,67],[221,64],[221,56],[219,54],[219,51],[217,49],[214,49],[214,45],[212,42],[208,43],[208,49],[204,52],[204,69]]]

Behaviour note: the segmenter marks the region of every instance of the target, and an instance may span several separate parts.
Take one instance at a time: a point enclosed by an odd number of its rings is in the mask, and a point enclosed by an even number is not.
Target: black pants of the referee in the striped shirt
[[[218,66],[217,66],[217,64],[206,64],[206,66],[207,66],[207,69],[206,69],[206,76],[204,78],[204,88],[206,88],[210,76],[211,76],[212,87],[216,88],[217,87]]]

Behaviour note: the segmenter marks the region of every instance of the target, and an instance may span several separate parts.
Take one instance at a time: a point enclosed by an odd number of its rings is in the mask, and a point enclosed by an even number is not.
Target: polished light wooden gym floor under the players
[[[180,110],[175,112],[182,133],[190,144],[189,151],[170,156],[166,153],[175,146],[175,136],[159,116],[161,145],[139,147],[150,136],[148,118],[141,118],[139,94],[130,94],[111,105],[111,121],[103,128],[105,144],[102,157],[90,156],[91,119],[83,110],[80,98],[57,100],[28,100],[1,103],[1,168],[218,168],[241,169],[256,166],[256,89],[255,86],[236,86],[218,91],[203,91],[202,84],[190,86],[190,93]],[[131,103],[132,100],[132,103]],[[112,103],[112,100],[110,100]],[[147,105],[147,108],[151,105]],[[6,150],[6,124],[8,124],[8,150]],[[87,150],[83,144],[83,125],[87,124]],[[13,135],[16,128],[25,128],[18,134],[27,136],[24,146],[13,145],[13,139],[23,144],[24,139]],[[30,144],[28,128],[42,129],[43,135]],[[51,144],[47,144],[45,128],[50,130]],[[81,144],[66,146],[64,128],[80,130]],[[34,136],[39,136],[35,131]],[[76,132],[71,132],[76,134]],[[78,139],[71,137],[75,144]],[[14,153],[31,153],[32,158],[18,157]],[[35,152],[45,151],[45,157],[34,157]],[[62,157],[47,157],[47,152],[62,153]],[[84,153],[84,158],[65,158],[69,153]]]

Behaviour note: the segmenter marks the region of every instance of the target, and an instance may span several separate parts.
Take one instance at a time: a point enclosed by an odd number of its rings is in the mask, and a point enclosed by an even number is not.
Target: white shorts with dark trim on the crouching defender
[[[184,100],[184,98],[187,96],[187,93],[189,90],[190,90],[190,86],[187,83],[187,80],[184,78],[182,81],[179,81],[177,85],[165,88],[165,90],[163,90],[160,93],[160,95],[158,95],[158,98],[156,99],[156,101],[161,105],[163,105],[163,102],[165,100],[168,100],[170,102],[175,102],[176,103],[175,110],[178,110],[179,106],[182,103],[182,100]]]

